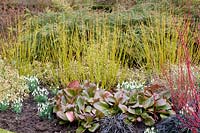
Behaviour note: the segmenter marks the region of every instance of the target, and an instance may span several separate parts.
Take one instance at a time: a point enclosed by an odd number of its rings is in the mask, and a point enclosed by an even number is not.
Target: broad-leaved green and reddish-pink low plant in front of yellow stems
[[[167,99],[144,90],[105,91],[95,84],[80,85],[74,81],[55,97],[54,112],[64,121],[78,120],[77,130],[94,132],[99,120],[106,116],[123,113],[129,122],[144,122],[150,126],[173,114]]]

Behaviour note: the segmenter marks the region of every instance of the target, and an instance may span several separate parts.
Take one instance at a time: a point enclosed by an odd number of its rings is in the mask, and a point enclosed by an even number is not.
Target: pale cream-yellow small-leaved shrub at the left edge
[[[0,101],[15,101],[27,97],[28,86],[18,71],[5,63],[0,57]]]

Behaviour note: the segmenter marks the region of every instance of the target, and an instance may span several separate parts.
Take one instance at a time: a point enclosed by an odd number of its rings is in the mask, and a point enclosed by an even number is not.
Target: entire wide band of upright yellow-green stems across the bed
[[[107,88],[131,77],[133,67],[159,73],[165,64],[176,64],[176,27],[181,28],[183,20],[176,22],[169,14],[148,17],[145,11],[136,15],[135,10],[92,16],[85,11],[48,11],[27,17],[10,28],[8,44],[12,45],[4,45],[2,53],[20,74],[45,73],[48,78],[38,77],[64,85],[77,79],[90,80]],[[185,39],[196,63],[200,54],[198,50],[194,52],[194,37],[189,34]],[[44,68],[42,72],[35,62]]]

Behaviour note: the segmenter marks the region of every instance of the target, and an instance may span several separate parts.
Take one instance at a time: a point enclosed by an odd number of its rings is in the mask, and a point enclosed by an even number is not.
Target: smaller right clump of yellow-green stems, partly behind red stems
[[[145,56],[147,69],[160,73],[166,64],[173,65],[178,62],[178,54],[183,54],[183,49],[178,47],[179,33],[177,28],[182,28],[184,20],[164,16],[160,19],[152,19],[147,24],[141,24],[141,56]],[[198,64],[200,59],[199,46],[195,44],[195,37],[191,29],[186,29],[188,33],[183,38],[187,42],[192,62]]]

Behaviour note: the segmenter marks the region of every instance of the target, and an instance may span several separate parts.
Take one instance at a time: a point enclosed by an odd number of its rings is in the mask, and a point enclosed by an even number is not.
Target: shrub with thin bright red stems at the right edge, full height
[[[199,87],[192,72],[191,55],[187,48],[187,40],[184,38],[188,35],[187,29],[189,26],[189,22],[185,22],[181,29],[177,29],[179,33],[177,80],[173,80],[173,73],[166,74],[165,71],[165,75],[171,91],[173,109],[176,111],[177,117],[185,127],[197,133],[200,129]],[[181,48],[183,51],[180,51]]]

